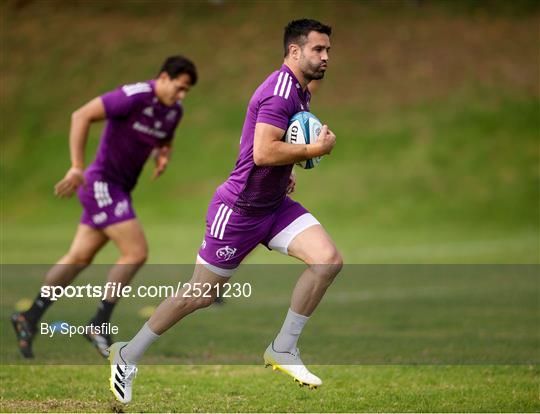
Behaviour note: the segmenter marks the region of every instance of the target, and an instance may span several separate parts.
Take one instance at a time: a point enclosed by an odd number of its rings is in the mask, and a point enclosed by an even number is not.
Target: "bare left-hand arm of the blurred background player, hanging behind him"
[[[105,107],[100,97],[92,99],[71,115],[69,152],[71,168],[54,187],[58,197],[71,197],[84,181],[84,149],[92,122],[105,119]]]

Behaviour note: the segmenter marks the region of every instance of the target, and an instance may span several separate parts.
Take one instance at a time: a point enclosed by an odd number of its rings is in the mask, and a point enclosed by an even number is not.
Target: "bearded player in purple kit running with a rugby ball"
[[[255,91],[247,109],[240,152],[229,178],[215,192],[206,216],[206,233],[189,284],[221,285],[259,243],[308,265],[292,292],[280,332],[264,353],[266,365],[317,387],[320,378],[300,359],[297,341],[310,315],[342,267],[342,258],[323,226],[287,196],[294,189],[293,165],[329,154],[336,136],[323,125],[317,142],[282,141],[289,119],[309,111],[308,84],[327,69],[331,28],[301,19],[285,28],[285,61]],[[161,334],[191,312],[211,305],[211,297],[177,296],[164,300],[130,342],[112,345],[110,387],[127,403],[132,397],[136,364]]]

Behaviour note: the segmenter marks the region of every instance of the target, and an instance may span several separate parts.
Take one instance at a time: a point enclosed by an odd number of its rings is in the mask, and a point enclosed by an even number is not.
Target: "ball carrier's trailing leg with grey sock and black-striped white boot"
[[[133,379],[137,373],[136,364],[146,349],[182,318],[197,309],[205,308],[214,303],[217,295],[216,289],[210,290],[208,297],[204,297],[187,295],[186,293],[189,293],[190,289],[187,286],[200,283],[199,286],[202,288],[207,283],[216,286],[227,281],[228,278],[219,276],[203,264],[197,263],[193,276],[186,287],[177,296],[171,296],[161,302],[152,317],[130,342],[117,342],[110,347],[110,390],[118,401],[122,403],[131,401]],[[203,289],[203,291],[206,290]],[[185,297],[184,294],[186,294]]]

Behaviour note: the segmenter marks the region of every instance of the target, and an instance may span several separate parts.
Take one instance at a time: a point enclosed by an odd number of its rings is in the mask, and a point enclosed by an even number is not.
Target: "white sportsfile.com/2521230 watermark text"
[[[171,296],[184,298],[249,298],[252,294],[252,286],[249,282],[244,283],[201,283],[201,282],[178,282],[172,285],[142,285],[134,288],[130,285],[122,285],[118,282],[107,282],[105,285],[79,286],[42,286],[41,297],[57,301],[60,298],[168,298]]]

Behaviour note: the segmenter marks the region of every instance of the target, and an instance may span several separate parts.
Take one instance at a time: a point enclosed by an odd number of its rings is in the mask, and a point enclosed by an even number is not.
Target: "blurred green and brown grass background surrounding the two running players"
[[[134,194],[150,263],[190,264],[208,200],[234,164],[246,102],[280,64],[281,28],[297,17],[297,4],[17,4],[0,6],[0,410],[119,410],[107,365],[82,338],[39,338],[38,359],[27,364],[7,320],[20,298],[37,293],[46,266],[34,265],[63,254],[80,215],[75,200],[51,194],[68,166],[69,114],[121,83],[153,77],[167,55],[195,60],[201,81],[186,100],[172,165],[155,183],[145,171]],[[414,4],[303,4],[302,14],[334,26],[330,69],[312,109],[338,144],[319,168],[298,172],[296,197],[347,264],[538,265],[538,4]],[[99,132],[91,131],[87,160]],[[115,257],[108,246],[96,262]],[[261,248],[247,263],[292,261]],[[38,272],[13,283],[10,266]],[[231,300],[160,339],[123,409],[540,411],[537,273],[523,284],[462,277],[445,285],[357,280],[352,268],[302,339],[308,365],[320,363],[320,389],[256,365],[294,281],[267,280],[261,289],[273,295]],[[136,311],[148,303],[118,307],[123,336],[144,321]],[[85,322],[94,306],[64,301],[46,320]],[[243,326],[250,334],[228,363]],[[327,345],[338,357],[321,358]],[[46,365],[71,364],[77,352],[86,365]]]

